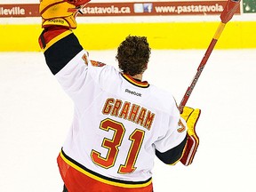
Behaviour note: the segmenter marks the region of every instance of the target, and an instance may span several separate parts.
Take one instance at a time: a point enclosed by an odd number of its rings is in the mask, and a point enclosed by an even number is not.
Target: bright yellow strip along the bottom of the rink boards
[[[87,50],[116,49],[128,35],[148,36],[152,49],[205,49],[219,22],[79,23],[74,33]],[[0,52],[40,52],[41,25],[0,25]],[[256,48],[255,21],[229,21],[216,49]]]

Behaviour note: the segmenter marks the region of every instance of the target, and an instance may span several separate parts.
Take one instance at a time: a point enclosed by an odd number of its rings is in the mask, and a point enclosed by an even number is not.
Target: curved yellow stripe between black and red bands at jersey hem
[[[62,153],[62,150],[60,151],[60,156],[61,158],[63,159],[63,161],[65,161],[66,164],[68,164],[69,166],[73,167],[74,169],[76,169],[76,171],[78,172],[82,172],[83,174],[85,174],[86,176],[92,178],[93,180],[98,180],[102,183],[106,183],[108,185],[112,185],[112,186],[116,186],[116,187],[121,187],[121,188],[144,188],[144,187],[147,187],[148,185],[151,184],[152,182],[152,179],[151,180],[148,180],[148,182],[146,183],[142,183],[142,184],[125,184],[125,183],[118,183],[118,182],[115,182],[115,181],[111,181],[111,180],[105,180],[105,179],[102,179],[90,172],[86,172],[83,168],[79,167],[78,165],[74,164],[73,162],[69,161]]]

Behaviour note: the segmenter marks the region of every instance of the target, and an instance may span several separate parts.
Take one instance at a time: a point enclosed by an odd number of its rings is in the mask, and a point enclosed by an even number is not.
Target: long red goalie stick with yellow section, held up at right
[[[217,28],[217,30],[215,32],[215,35],[212,38],[211,44],[209,44],[206,52],[204,53],[204,58],[201,61],[199,67],[197,68],[196,76],[194,76],[190,86],[188,86],[188,89],[185,92],[185,94],[184,94],[184,96],[183,96],[183,98],[180,102],[180,106],[179,106],[180,113],[182,113],[183,108],[185,107],[185,105],[188,101],[188,98],[191,95],[191,92],[195,88],[196,82],[198,81],[198,78],[201,75],[201,73],[204,69],[204,66],[205,66],[207,60],[209,59],[209,57],[212,53],[212,50],[213,50],[215,44],[217,43],[222,31],[224,30],[228,21],[232,19],[232,17],[235,14],[238,6],[240,5],[240,1],[241,0],[228,0],[228,3],[226,4],[223,12],[221,12],[221,14],[220,14],[221,22],[220,22],[219,28]]]

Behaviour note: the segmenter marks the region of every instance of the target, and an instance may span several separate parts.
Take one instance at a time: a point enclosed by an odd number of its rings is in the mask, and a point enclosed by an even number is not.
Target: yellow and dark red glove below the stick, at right
[[[200,116],[201,110],[199,108],[184,107],[181,113],[181,117],[187,122],[188,126],[188,140],[184,149],[180,162],[186,166],[192,164],[196,149],[199,145],[199,138],[196,135],[196,122]]]

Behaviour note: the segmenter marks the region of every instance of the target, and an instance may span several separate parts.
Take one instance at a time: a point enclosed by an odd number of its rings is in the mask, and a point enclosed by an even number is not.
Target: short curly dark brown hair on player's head
[[[118,67],[124,74],[138,75],[146,70],[150,53],[146,36],[127,36],[117,49]]]

